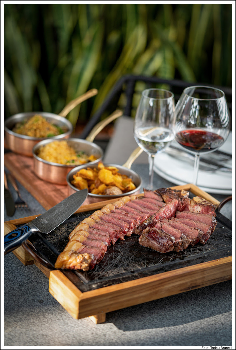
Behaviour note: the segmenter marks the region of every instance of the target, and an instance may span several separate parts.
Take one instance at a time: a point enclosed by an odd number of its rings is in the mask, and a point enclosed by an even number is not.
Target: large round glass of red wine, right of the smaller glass
[[[209,86],[183,90],[175,106],[175,140],[195,154],[193,184],[197,184],[201,154],[216,151],[227,139],[230,114],[224,92]]]

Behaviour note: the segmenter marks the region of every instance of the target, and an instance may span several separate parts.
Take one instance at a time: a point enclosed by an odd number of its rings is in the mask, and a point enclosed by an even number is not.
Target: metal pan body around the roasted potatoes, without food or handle
[[[122,165],[117,165],[117,164],[104,164],[104,165],[105,165],[105,167],[107,167],[107,166],[116,167],[119,170],[120,174],[124,174],[124,175],[129,176],[132,179],[133,183],[135,184],[136,189],[129,191],[127,193],[124,193],[123,195],[107,196],[107,195],[96,195],[96,194],[88,193],[88,196],[87,196],[86,200],[84,201],[84,205],[90,204],[90,203],[106,201],[106,200],[113,199],[113,198],[120,198],[123,196],[131,196],[131,195],[140,193],[142,180],[141,180],[141,177],[136,172],[134,172],[133,170],[128,169]],[[88,168],[88,164],[79,165],[76,168],[70,170],[70,172],[67,174],[68,196],[75,193],[76,191],[79,191],[78,188],[76,188],[75,186],[72,185],[71,181],[73,180],[73,175],[75,175],[79,170],[84,169],[84,168]],[[97,165],[93,166],[93,168],[97,168]]]

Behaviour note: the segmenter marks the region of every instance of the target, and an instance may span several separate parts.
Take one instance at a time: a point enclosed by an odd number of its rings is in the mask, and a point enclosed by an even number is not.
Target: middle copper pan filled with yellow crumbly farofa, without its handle
[[[33,147],[34,173],[42,180],[66,185],[67,174],[78,164],[91,166],[103,157],[103,150],[93,142],[69,138],[48,139]]]

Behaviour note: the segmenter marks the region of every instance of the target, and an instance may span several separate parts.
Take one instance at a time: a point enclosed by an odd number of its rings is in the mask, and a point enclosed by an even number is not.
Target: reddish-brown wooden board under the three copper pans
[[[68,197],[68,188],[63,185],[46,182],[33,171],[33,158],[15,153],[4,155],[4,165],[20,184],[46,210]]]

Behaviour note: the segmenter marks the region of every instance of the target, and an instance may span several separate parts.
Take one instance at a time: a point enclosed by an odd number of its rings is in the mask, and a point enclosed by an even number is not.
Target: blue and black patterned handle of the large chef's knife
[[[28,239],[33,233],[39,232],[34,224],[29,222],[4,236],[4,255],[11,252]]]

